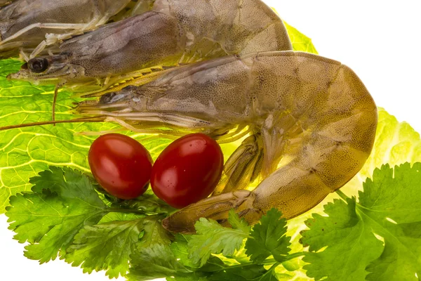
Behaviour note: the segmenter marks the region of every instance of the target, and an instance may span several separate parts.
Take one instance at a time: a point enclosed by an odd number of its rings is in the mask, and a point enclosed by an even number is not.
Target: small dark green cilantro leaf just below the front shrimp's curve
[[[255,263],[262,263],[268,256],[283,261],[290,249],[290,237],[286,236],[286,219],[277,209],[270,209],[253,227],[246,242],[246,254]]]

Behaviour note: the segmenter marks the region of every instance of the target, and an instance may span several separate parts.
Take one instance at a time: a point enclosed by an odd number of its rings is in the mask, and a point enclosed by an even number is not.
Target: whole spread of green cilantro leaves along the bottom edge
[[[417,280],[421,272],[421,163],[375,169],[359,199],[340,199],[305,221],[291,251],[288,222],[271,209],[255,226],[229,211],[231,228],[201,218],[196,234],[173,235],[161,220],[173,209],[147,193],[122,202],[98,192],[92,178],[51,167],[31,179],[32,192],[11,197],[6,215],[25,256],[57,257],[83,272],[128,280],[282,280],[278,268],[302,259],[315,280]]]

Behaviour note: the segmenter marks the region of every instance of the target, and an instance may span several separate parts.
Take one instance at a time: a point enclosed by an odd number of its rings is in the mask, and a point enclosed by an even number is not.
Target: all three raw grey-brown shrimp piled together
[[[171,232],[192,233],[202,217],[228,225],[230,209],[250,224],[273,207],[293,218],[370,155],[377,108],[363,83],[335,60],[291,51],[282,20],[260,0],[86,0],[66,3],[67,13],[63,5],[1,8],[1,56],[25,60],[9,79],[89,98],[74,109],[86,122],[243,139],[213,195],[163,221]]]

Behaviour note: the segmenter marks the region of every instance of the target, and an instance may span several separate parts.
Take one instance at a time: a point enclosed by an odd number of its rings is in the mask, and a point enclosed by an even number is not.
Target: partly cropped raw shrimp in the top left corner
[[[0,10],[0,58],[20,49],[32,58],[47,45],[105,24],[130,1],[16,0]]]

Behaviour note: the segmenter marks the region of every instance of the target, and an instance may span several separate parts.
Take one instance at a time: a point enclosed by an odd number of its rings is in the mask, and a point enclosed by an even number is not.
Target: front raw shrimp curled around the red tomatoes
[[[213,196],[163,221],[181,233],[193,232],[201,217],[227,224],[229,209],[248,223],[272,207],[286,218],[312,209],[361,169],[377,126],[373,98],[349,67],[293,51],[178,67],[77,111],[133,131],[166,127],[166,134],[202,132],[222,143],[247,133]],[[255,179],[257,188],[247,190]]]

